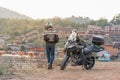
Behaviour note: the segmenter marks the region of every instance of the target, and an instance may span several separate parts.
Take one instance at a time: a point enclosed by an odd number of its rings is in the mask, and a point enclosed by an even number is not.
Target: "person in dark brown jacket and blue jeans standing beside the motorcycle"
[[[47,23],[45,29],[44,41],[46,42],[48,69],[52,69],[52,64],[55,58],[55,44],[59,41],[59,37],[56,31],[53,30],[51,23]]]

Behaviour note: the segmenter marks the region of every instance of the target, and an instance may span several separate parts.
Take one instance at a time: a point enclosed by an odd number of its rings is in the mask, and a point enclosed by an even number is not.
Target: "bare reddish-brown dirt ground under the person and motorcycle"
[[[92,70],[68,66],[61,71],[59,66],[53,67],[17,70],[12,75],[0,76],[0,80],[120,80],[120,62],[96,62]]]

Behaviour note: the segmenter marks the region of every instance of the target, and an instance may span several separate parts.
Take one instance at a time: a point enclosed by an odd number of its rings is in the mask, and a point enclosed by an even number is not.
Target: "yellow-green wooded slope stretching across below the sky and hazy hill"
[[[35,46],[39,46],[39,43],[43,42],[42,33],[44,31],[44,26],[47,22],[52,22],[54,28],[60,30],[60,28],[70,27],[81,30],[86,30],[88,25],[97,25],[104,28],[105,26],[112,24],[120,24],[120,14],[115,16],[113,20],[108,22],[105,18],[100,18],[98,20],[91,20],[88,17],[69,17],[69,18],[60,18],[55,17],[52,19],[38,19],[38,20],[28,20],[28,19],[0,19],[0,36],[8,36],[6,41],[8,43],[14,42],[14,40],[20,40],[25,43],[25,40],[28,42],[33,42]],[[32,34],[32,31],[37,30],[37,34]],[[30,34],[30,35],[29,35]],[[26,36],[29,35],[29,36]],[[36,37],[37,36],[37,37]],[[44,45],[43,43],[40,45]],[[63,43],[59,43],[59,46],[62,46]]]

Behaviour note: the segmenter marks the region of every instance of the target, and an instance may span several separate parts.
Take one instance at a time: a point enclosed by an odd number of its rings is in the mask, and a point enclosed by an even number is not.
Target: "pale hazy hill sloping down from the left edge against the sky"
[[[19,14],[15,11],[0,7],[0,18],[10,18],[10,19],[31,19],[28,16]]]

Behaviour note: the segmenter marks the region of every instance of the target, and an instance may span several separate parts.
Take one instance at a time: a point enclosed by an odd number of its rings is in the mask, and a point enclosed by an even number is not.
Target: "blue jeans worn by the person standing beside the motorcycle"
[[[47,61],[52,64],[55,58],[55,46],[46,46]]]

